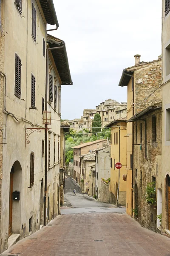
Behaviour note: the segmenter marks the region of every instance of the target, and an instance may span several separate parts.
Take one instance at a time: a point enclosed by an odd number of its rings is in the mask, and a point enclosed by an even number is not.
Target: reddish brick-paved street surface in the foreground
[[[170,239],[126,214],[60,215],[2,255],[170,256]]]

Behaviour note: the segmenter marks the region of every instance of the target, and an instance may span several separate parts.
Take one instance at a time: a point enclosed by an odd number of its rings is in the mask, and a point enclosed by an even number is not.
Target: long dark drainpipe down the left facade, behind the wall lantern
[[[59,47],[51,47],[46,49],[46,80],[45,80],[45,111],[47,111],[47,96],[48,96],[48,51],[54,49],[61,49],[65,46],[63,44]],[[45,124],[45,191],[44,191],[44,226],[46,226],[46,196],[47,196],[47,131],[48,125]]]

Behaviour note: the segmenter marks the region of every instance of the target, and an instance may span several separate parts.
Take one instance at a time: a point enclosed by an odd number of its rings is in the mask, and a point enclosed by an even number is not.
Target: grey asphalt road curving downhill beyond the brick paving
[[[73,195],[73,189],[76,189],[76,195]],[[61,208],[61,214],[77,214],[88,212],[125,212],[125,208],[117,208],[113,204],[106,204],[82,194],[79,184],[74,179],[67,176],[65,179],[64,207]]]

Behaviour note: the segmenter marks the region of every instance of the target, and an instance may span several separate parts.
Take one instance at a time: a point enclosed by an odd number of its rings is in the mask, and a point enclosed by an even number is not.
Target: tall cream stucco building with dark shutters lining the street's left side
[[[61,85],[72,84],[65,43],[47,35],[47,23],[59,26],[53,1],[22,3],[1,1],[7,32],[1,252],[59,214]]]

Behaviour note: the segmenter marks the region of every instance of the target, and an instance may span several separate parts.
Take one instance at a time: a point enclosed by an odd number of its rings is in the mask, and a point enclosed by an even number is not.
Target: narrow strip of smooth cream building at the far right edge
[[[170,235],[170,2],[162,0],[162,232]]]

